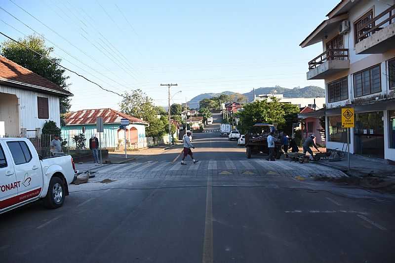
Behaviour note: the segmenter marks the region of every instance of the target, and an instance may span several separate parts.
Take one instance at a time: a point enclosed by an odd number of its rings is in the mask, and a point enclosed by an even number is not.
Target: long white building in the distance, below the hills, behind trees
[[[281,103],[290,103],[297,105],[299,108],[314,108],[314,104],[316,105],[316,109],[321,109],[325,107],[325,98],[284,98],[283,94],[260,94],[256,95],[254,101],[262,101],[267,100],[271,101],[271,98],[275,97]]]

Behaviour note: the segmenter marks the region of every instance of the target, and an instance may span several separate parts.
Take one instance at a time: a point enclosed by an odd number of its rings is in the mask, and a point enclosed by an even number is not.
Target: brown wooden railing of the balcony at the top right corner
[[[386,16],[386,15],[388,15],[388,17],[386,19],[384,19],[380,23],[376,24],[377,20],[384,18],[384,16]],[[381,28],[382,25],[384,25],[386,23],[392,24],[394,22],[393,19],[395,19],[395,5],[387,8],[381,14],[375,16],[373,19],[369,20],[365,24],[358,26],[358,28],[356,29],[357,42],[359,43],[363,39],[368,38],[368,37],[372,36],[374,33],[382,30],[383,29],[383,28]]]

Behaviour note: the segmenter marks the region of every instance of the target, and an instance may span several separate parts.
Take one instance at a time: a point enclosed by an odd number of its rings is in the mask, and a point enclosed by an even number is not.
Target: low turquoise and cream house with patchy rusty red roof
[[[99,135],[96,127],[98,117],[103,118],[104,132]],[[121,119],[129,120],[129,125],[123,130],[120,126]],[[118,112],[113,109],[92,109],[71,112],[66,115],[66,126],[62,127],[62,138],[71,143],[73,148],[74,136],[84,134],[85,147],[89,148],[89,138],[95,135],[101,137],[102,148],[108,150],[141,149],[147,147],[145,128],[150,126],[145,120]],[[126,134],[126,142],[125,142]]]

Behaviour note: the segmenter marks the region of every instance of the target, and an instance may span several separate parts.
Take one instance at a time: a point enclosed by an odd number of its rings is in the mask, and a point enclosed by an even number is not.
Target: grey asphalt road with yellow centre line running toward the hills
[[[393,197],[261,175],[262,157],[248,169],[244,148],[218,132],[195,133],[193,143],[198,169],[187,159],[178,170],[177,147],[104,168],[110,179],[121,170],[126,178],[71,186],[59,209],[39,201],[1,215],[1,263],[394,262]],[[227,169],[232,163],[250,173]]]

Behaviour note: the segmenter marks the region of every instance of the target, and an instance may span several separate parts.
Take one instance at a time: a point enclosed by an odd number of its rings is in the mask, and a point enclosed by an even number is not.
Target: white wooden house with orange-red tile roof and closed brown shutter
[[[60,127],[59,98],[73,96],[0,56],[0,137],[40,134],[45,121]]]

